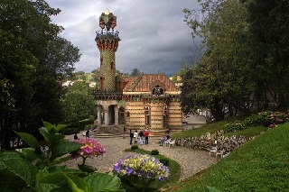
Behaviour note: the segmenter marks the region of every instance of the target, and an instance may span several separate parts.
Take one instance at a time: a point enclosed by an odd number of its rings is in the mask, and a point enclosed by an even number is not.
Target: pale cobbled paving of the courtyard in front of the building
[[[79,137],[83,137],[80,136]],[[73,135],[67,136],[67,139],[73,141]],[[113,165],[122,158],[125,158],[129,152],[124,150],[130,148],[129,138],[97,138],[104,148],[106,153],[104,156],[98,156],[94,159],[87,159],[86,164],[93,166],[98,171],[109,172],[113,169]],[[164,147],[159,146],[160,139],[149,138],[149,144],[139,145],[139,148],[146,151],[158,150],[160,154],[172,160],[177,161],[182,167],[181,180],[189,178],[203,169],[208,169],[212,164],[216,163],[215,157],[210,157],[209,151],[200,151],[184,147]],[[82,159],[69,160],[65,164],[71,168],[77,168],[77,164],[81,163]]]

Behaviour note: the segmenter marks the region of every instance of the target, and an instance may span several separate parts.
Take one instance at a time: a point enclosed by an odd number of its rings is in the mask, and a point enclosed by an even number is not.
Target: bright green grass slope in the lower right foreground
[[[173,191],[288,191],[289,124],[256,136],[210,169],[173,187]]]

